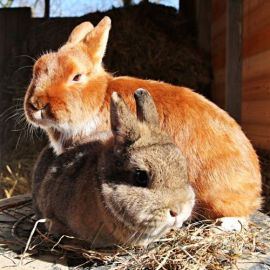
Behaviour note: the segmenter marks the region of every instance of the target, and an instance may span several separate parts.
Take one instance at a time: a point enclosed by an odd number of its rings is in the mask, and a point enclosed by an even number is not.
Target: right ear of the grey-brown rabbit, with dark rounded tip
[[[145,89],[135,91],[137,117],[140,121],[159,126],[159,116],[151,95]]]

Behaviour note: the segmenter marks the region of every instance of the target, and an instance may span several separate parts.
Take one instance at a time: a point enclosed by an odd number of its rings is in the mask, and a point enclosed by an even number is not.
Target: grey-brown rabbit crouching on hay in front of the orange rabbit
[[[194,192],[186,160],[161,131],[149,93],[139,89],[135,98],[141,121],[114,92],[113,136],[67,150],[44,180],[34,178],[35,208],[51,232],[94,247],[147,245],[190,216]]]

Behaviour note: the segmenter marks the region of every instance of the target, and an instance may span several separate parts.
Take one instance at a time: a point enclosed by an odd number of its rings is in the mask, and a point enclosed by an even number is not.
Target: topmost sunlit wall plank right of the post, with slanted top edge
[[[270,50],[253,55],[243,60],[243,80],[270,75]]]

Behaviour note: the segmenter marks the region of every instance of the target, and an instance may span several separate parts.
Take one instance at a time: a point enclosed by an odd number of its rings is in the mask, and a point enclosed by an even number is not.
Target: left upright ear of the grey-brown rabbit
[[[117,92],[111,96],[111,128],[116,144],[130,145],[140,137],[138,120]]]

